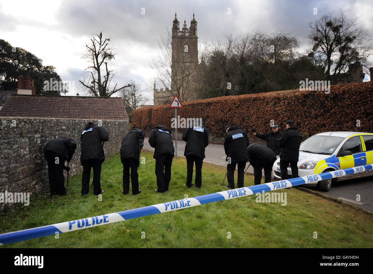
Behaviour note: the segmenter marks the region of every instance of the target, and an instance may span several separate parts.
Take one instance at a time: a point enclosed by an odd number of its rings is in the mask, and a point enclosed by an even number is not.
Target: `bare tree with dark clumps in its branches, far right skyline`
[[[327,78],[333,83],[341,81],[347,75],[348,64],[361,62],[366,72],[367,58],[372,55],[372,45],[369,44],[369,32],[357,24],[358,17],[348,19],[346,12],[339,11],[339,16],[333,13],[323,15],[319,20],[310,23],[313,55],[322,57]]]

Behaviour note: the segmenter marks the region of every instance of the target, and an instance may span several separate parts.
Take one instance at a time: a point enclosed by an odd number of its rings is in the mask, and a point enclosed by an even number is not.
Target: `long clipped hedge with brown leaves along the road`
[[[190,101],[183,103],[178,115],[203,118],[209,133],[216,136],[223,136],[228,124],[248,133],[252,128],[269,132],[270,120],[280,131],[286,120],[294,120],[304,138],[326,131],[373,132],[373,82],[332,85],[329,94],[294,89]],[[132,123],[144,130],[156,125],[170,129],[173,117],[169,105],[144,107],[134,110]]]

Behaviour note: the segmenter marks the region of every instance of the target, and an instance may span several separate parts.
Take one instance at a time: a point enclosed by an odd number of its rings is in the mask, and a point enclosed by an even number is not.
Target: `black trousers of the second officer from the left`
[[[83,163],[82,195],[90,192],[91,168],[93,167],[93,193],[101,194],[101,161],[95,158],[87,159]]]

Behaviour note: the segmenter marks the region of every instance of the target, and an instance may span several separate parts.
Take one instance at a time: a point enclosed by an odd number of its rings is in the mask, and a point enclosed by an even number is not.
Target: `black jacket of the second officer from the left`
[[[101,142],[109,141],[109,132],[103,127],[89,122],[87,126],[84,127],[80,135],[80,140],[82,142],[82,154],[80,155],[80,162],[82,164],[87,159],[98,159],[101,163],[105,160],[104,149]]]

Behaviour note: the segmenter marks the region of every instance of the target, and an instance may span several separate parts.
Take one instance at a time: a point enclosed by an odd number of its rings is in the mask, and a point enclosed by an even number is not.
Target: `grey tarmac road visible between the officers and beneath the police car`
[[[144,149],[153,150],[150,147],[149,138],[145,138]],[[175,140],[173,141],[175,146]],[[178,140],[178,155],[184,157],[185,142]],[[203,160],[206,163],[217,164],[219,166],[227,166],[225,161],[225,152],[223,145],[209,144],[205,151],[206,158]],[[246,164],[246,167],[249,163]],[[237,169],[237,167],[236,167]],[[253,167],[249,167],[246,171],[248,173],[254,173]],[[262,176],[264,172],[262,171]],[[353,179],[342,182],[336,182],[332,184],[332,188],[329,192],[321,191],[314,187],[309,187],[310,189],[319,191],[320,193],[340,199],[344,202],[348,202],[352,205],[364,208],[365,210],[373,212],[373,177],[367,177],[362,179]],[[357,196],[360,195],[360,201],[356,201]]]

